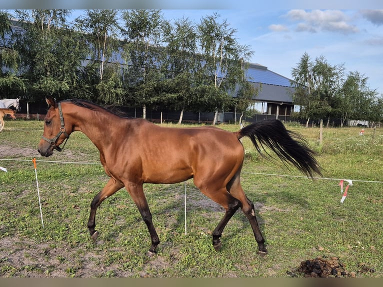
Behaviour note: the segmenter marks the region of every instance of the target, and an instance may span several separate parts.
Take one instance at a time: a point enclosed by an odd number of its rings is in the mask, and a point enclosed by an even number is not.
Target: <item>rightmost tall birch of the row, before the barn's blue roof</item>
[[[201,18],[197,25],[200,53],[203,65],[197,73],[200,91],[205,91],[204,100],[207,111],[214,111],[213,124],[218,110],[228,105],[229,91],[243,76],[241,59],[247,60],[253,53],[248,46],[241,46],[235,38],[236,29],[231,28],[226,19],[219,21],[220,15],[213,13]],[[199,95],[201,96],[201,95]]]

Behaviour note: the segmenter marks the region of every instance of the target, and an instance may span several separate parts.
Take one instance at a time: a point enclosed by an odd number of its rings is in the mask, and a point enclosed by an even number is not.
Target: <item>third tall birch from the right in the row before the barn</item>
[[[167,23],[160,10],[124,10],[122,20],[124,84],[130,101],[142,106],[145,118],[146,106],[155,105],[162,94],[165,51],[161,44]]]

